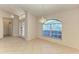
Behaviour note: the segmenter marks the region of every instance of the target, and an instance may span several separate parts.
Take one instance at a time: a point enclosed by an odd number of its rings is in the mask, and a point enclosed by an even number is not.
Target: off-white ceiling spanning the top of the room
[[[15,4],[0,5],[0,9],[9,14],[21,15],[28,11],[35,16],[46,16],[52,13],[78,8],[79,5],[68,4]]]

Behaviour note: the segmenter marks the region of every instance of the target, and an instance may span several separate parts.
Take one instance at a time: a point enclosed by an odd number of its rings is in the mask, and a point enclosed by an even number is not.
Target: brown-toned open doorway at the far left
[[[12,36],[12,19],[3,18],[3,34],[5,36]]]

